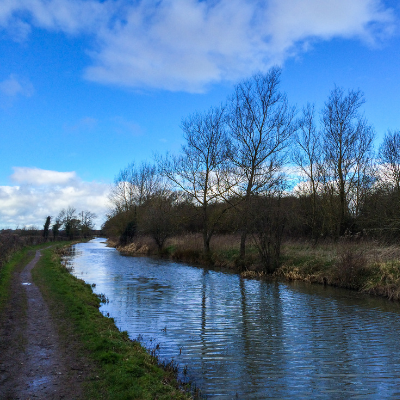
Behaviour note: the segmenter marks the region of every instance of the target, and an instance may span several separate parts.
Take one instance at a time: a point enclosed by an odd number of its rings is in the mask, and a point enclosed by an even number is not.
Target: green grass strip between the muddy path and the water
[[[33,270],[65,343],[74,342],[93,365],[85,379],[88,399],[188,399],[173,366],[163,368],[139,343],[120,332],[100,311],[90,285],[61,264],[63,249],[44,250]]]

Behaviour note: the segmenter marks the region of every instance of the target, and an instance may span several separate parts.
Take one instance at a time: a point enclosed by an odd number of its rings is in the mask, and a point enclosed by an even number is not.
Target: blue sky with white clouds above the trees
[[[0,229],[98,215],[120,169],[271,66],[297,109],[360,89],[400,129],[397,0],[0,0]]]

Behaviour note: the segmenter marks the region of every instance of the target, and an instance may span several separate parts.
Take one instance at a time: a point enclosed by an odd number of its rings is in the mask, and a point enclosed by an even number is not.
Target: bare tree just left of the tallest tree
[[[186,144],[182,155],[159,160],[162,173],[174,186],[185,192],[202,213],[203,244],[210,252],[210,240],[225,209],[216,215],[210,205],[229,192],[229,141],[225,128],[225,109],[213,107],[182,122]]]

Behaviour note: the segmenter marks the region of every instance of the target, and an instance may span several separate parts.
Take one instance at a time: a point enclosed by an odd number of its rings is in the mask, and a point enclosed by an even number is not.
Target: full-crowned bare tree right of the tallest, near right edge
[[[335,87],[322,110],[326,185],[339,197],[336,236],[348,228],[351,196],[359,190],[372,158],[374,131],[359,113],[364,102],[359,90],[345,94]]]

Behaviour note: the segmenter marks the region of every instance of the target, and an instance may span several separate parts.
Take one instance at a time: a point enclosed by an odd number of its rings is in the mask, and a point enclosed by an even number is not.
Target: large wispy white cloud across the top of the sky
[[[21,12],[30,18],[19,16]],[[8,0],[0,26],[27,23],[89,33],[89,80],[128,87],[203,91],[305,51],[316,40],[390,35],[383,0]]]

